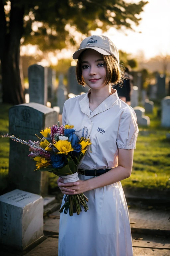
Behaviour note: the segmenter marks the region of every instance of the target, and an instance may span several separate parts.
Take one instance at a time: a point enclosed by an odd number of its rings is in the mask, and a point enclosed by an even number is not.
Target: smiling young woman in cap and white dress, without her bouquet
[[[119,52],[108,37],[94,35],[82,41],[73,59],[79,84],[90,90],[65,102],[63,124],[85,128],[92,144],[78,166],[79,180],[64,184],[59,178],[58,186],[63,194],[84,193],[89,210],[60,214],[58,255],[132,256],[120,181],[131,174],[138,127],[134,110],[112,89],[122,80]]]

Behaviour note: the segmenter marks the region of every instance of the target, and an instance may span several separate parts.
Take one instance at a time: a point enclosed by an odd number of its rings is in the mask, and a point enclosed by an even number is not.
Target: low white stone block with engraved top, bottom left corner
[[[43,198],[15,189],[0,196],[0,241],[24,250],[43,236]]]

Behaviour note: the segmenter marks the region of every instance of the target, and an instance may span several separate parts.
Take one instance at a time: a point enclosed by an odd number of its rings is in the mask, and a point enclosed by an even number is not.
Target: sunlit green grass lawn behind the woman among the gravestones
[[[9,105],[0,104],[0,135],[8,133]],[[134,150],[132,174],[122,181],[123,187],[170,190],[170,141],[166,139],[168,129],[160,127],[157,107],[148,128],[139,126],[139,135]],[[8,185],[9,139],[0,138],[0,190]],[[50,188],[55,189],[57,176],[49,174]]]

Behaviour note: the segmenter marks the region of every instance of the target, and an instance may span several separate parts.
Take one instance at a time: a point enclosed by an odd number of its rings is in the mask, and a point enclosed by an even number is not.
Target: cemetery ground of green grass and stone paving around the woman
[[[9,105],[0,104],[0,134],[8,133],[9,107]],[[124,190],[133,197],[136,195],[142,198],[144,194],[146,197],[152,195],[152,198],[165,199],[170,191],[170,141],[166,139],[169,130],[160,127],[157,109],[158,107],[154,108],[153,114],[146,114],[151,120],[150,127],[139,127],[132,174],[130,178],[122,181]],[[8,188],[9,139],[0,139],[0,194],[4,194],[11,190]],[[59,195],[56,180],[57,177],[51,174],[49,192]],[[58,202],[60,200],[59,195]],[[144,207],[140,207],[140,212],[137,213],[136,206]],[[140,200],[128,202],[134,256],[169,255],[168,214],[170,209],[166,203],[162,207],[161,210],[154,209],[150,201],[145,205],[141,204]],[[57,256],[59,212],[58,210],[45,212],[46,209],[44,209],[44,241],[22,253],[10,248],[9,250],[0,248],[0,254],[2,253],[3,256]]]

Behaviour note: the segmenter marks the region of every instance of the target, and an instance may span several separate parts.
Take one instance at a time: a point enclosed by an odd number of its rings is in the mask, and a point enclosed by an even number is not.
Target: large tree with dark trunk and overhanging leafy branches
[[[20,43],[38,44],[41,50],[76,44],[70,27],[89,35],[100,27],[132,29],[136,14],[147,2],[124,0],[0,0],[0,60],[3,102],[21,104],[24,94],[19,72]],[[37,27],[37,29],[34,29]]]

